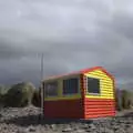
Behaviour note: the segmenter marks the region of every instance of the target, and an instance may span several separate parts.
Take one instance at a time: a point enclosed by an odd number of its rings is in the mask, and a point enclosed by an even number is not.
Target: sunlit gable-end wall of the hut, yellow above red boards
[[[85,94],[84,117],[93,119],[115,115],[114,80],[102,70],[95,70],[84,74],[84,91],[86,93],[86,76],[100,80],[99,95]]]

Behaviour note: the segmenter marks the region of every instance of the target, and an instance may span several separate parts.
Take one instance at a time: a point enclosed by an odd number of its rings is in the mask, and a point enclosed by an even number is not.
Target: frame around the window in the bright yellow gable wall
[[[89,78],[90,79],[95,79],[95,80],[99,80],[99,90],[100,90],[100,93],[92,93],[92,92],[89,92]],[[85,83],[85,86],[86,86],[86,95],[101,95],[101,81],[100,79],[98,78],[93,78],[93,76],[86,76],[86,83]]]

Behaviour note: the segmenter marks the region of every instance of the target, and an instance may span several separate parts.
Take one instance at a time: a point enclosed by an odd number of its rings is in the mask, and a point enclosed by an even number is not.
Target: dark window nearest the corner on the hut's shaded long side
[[[76,94],[79,92],[79,79],[72,78],[63,80],[63,94]]]

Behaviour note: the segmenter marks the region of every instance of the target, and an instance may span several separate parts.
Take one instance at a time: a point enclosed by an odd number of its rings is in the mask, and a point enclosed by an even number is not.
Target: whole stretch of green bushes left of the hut
[[[40,89],[35,89],[30,82],[21,82],[10,88],[0,85],[0,106],[41,106],[40,98]]]

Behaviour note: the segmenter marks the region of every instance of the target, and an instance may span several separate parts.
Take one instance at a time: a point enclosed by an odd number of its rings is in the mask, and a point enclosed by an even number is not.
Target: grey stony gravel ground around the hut
[[[133,110],[115,117],[89,121],[48,121],[40,109],[7,108],[0,110],[0,133],[133,133]]]

